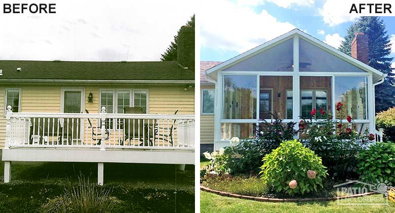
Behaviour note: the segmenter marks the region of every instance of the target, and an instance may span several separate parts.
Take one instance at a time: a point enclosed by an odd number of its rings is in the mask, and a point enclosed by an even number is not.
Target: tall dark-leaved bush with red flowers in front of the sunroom
[[[351,116],[346,116],[343,105],[338,102],[336,111],[339,119],[333,119],[322,108],[313,109],[311,119],[299,122],[300,141],[322,158],[331,177],[338,180],[357,179],[357,156],[374,135],[359,134],[352,126]],[[317,119],[317,114],[321,118]],[[341,121],[347,120],[347,123]]]

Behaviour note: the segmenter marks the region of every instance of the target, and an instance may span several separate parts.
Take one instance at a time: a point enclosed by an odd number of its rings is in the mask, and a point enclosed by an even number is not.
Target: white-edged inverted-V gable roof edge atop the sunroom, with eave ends
[[[260,45],[258,47],[255,47],[255,48],[253,48],[253,49],[251,49],[251,50],[249,50],[249,51],[247,51],[245,53],[242,53],[242,54],[240,54],[238,56],[235,56],[234,58],[231,58],[231,59],[229,59],[229,60],[227,60],[227,61],[225,61],[225,62],[223,62],[223,63],[221,63],[221,64],[219,64],[217,66],[214,66],[214,67],[208,69],[206,71],[206,73],[207,73],[207,75],[210,78],[216,79],[217,78],[217,76],[216,76],[217,71],[224,70],[224,69],[226,69],[226,68],[228,68],[230,66],[238,64],[241,61],[244,61],[244,60],[250,58],[251,56],[256,55],[257,53],[260,53],[262,50],[265,50],[267,48],[271,48],[273,46],[281,44],[282,41],[285,41],[285,40],[288,40],[288,39],[292,38],[295,34],[297,34],[299,37],[302,37],[305,40],[308,40],[312,44],[317,45],[320,48],[328,51],[329,53],[335,55],[336,57],[338,57],[338,58],[340,58],[340,59],[342,59],[342,60],[344,60],[344,61],[346,61],[346,62],[348,62],[348,63],[350,63],[350,64],[352,64],[354,66],[357,66],[358,68],[361,68],[362,70],[365,70],[367,72],[372,72],[373,73],[373,79],[375,79],[375,81],[377,81],[378,79],[380,79],[384,75],[382,72],[378,71],[377,69],[374,69],[373,67],[371,67],[371,66],[369,66],[369,65],[367,65],[367,64],[365,64],[365,63],[363,63],[363,62],[361,62],[361,61],[359,61],[359,60],[357,60],[355,58],[352,58],[351,56],[349,56],[347,54],[342,53],[341,51],[339,51],[339,50],[337,50],[337,49],[325,44],[323,41],[321,41],[321,40],[319,40],[317,38],[314,38],[311,35],[303,32],[303,31],[301,31],[299,29],[293,29],[290,32],[287,32],[287,33],[285,33],[285,34],[283,34],[283,35],[281,35],[279,37],[276,37],[276,38],[274,38],[272,40],[269,40],[269,41],[265,42],[264,44],[262,44],[262,45]]]

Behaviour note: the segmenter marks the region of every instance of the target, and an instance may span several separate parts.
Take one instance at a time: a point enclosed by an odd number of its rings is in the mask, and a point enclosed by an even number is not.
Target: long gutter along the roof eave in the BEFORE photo
[[[184,84],[194,80],[76,80],[76,79],[0,79],[6,83],[141,83],[141,84]]]

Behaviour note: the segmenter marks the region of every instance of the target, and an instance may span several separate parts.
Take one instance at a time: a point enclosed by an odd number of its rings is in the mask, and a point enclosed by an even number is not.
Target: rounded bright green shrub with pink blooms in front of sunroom
[[[322,180],[327,175],[321,158],[296,140],[281,143],[262,161],[261,179],[278,193],[317,192],[318,186],[323,187]]]

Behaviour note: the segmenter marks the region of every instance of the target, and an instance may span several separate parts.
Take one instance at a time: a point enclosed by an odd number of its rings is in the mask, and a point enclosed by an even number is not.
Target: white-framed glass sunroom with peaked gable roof
[[[206,73],[216,82],[216,150],[232,137],[254,136],[256,125],[275,117],[298,122],[323,108],[338,118],[337,102],[357,131],[374,133],[374,86],[385,77],[298,29]]]

